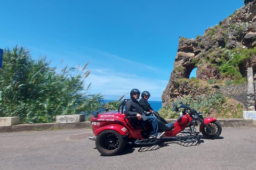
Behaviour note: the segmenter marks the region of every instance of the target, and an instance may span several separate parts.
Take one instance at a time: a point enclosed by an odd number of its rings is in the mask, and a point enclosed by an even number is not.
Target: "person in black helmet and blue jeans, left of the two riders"
[[[154,116],[145,116],[143,109],[139,105],[139,101],[137,100],[140,96],[140,90],[132,89],[130,92],[131,98],[125,103],[125,116],[137,116],[138,120],[142,120],[146,123],[149,123],[153,126],[153,131],[151,131],[149,138],[159,138],[164,134],[158,133],[158,122],[157,118]]]

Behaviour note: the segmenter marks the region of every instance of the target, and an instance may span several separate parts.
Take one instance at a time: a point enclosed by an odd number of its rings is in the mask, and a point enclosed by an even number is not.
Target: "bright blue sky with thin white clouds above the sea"
[[[84,65],[91,94],[147,90],[160,100],[179,36],[196,38],[244,5],[216,1],[0,1],[0,48],[15,45],[52,66]],[[60,64],[63,59],[62,64]],[[195,75],[195,73],[191,73]],[[117,98],[118,98],[117,97]]]

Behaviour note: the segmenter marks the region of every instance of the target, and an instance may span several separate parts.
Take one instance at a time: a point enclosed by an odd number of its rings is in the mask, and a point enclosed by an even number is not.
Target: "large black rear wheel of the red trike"
[[[117,155],[126,145],[127,139],[114,130],[102,131],[96,138],[96,148],[103,156]]]

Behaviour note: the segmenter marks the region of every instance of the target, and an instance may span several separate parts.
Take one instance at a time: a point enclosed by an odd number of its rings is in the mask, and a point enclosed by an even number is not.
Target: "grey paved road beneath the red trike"
[[[91,130],[0,133],[0,169],[255,169],[256,128],[223,128],[200,145],[165,142],[101,156]]]

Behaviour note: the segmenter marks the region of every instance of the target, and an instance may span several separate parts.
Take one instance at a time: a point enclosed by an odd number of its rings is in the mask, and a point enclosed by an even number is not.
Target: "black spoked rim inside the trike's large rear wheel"
[[[114,133],[106,133],[99,144],[104,149],[115,150],[119,146],[119,138]]]

